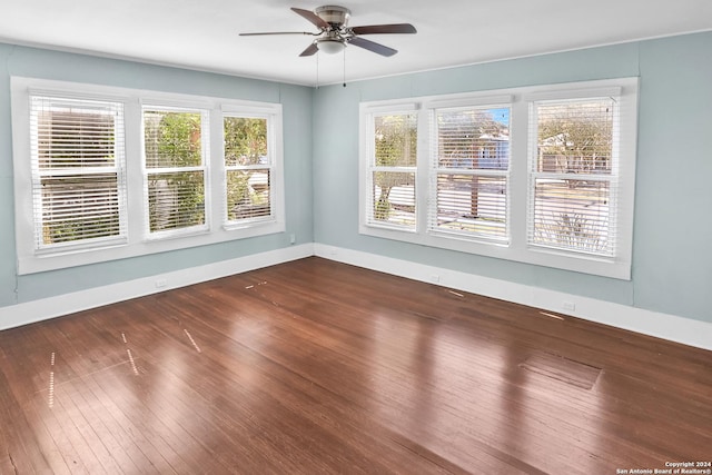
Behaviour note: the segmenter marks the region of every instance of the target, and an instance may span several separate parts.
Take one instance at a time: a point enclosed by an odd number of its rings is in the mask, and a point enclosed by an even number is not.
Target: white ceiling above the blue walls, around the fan
[[[712,30],[712,0],[338,0],[350,27],[413,23],[369,34],[399,52],[350,46],[300,58],[316,31],[304,0],[0,0],[0,41],[298,85],[340,82],[630,40]],[[326,4],[334,4],[326,3]],[[317,77],[318,58],[318,77]],[[344,68],[344,60],[346,62]]]

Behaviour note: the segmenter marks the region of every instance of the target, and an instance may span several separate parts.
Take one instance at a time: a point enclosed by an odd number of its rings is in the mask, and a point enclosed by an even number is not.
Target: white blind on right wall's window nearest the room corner
[[[416,227],[417,113],[372,116],[366,222]]]

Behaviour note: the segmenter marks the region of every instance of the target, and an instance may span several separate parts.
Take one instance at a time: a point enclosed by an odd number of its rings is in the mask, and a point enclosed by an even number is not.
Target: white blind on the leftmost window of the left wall
[[[34,249],[125,241],[123,107],[30,96]]]

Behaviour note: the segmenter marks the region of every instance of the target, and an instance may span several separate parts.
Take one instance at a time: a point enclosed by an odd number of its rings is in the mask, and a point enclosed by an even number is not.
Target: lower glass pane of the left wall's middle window
[[[151,232],[204,225],[205,174],[149,174],[148,209]]]

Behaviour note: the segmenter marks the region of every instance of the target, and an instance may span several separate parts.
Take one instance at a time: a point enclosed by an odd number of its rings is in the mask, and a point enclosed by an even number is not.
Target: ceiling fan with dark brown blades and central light
[[[293,8],[291,11],[306,18],[319,29],[317,32],[308,31],[271,31],[259,33],[240,33],[243,37],[265,34],[309,34],[316,37],[312,44],[299,56],[313,56],[317,51],[329,55],[343,51],[347,44],[354,44],[367,49],[380,56],[393,56],[397,50],[375,41],[360,38],[362,34],[389,34],[389,33],[416,33],[416,29],[409,23],[369,24],[366,27],[348,27],[350,10],[344,7],[324,6],[314,11]]]

